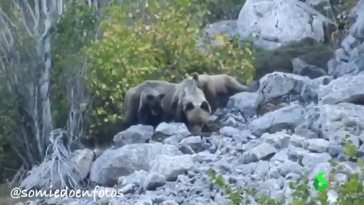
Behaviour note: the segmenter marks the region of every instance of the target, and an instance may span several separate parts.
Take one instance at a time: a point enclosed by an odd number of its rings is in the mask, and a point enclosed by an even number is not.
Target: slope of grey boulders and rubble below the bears
[[[359,1],[357,7],[363,5]],[[257,92],[232,96],[226,109],[211,116],[212,122],[222,124],[211,136],[191,136],[179,123],[162,123],[155,131],[135,125],[115,136],[113,148],[97,151],[95,160],[95,150],[78,150],[72,158],[76,166],[62,167],[70,169],[76,181],[88,177],[90,192],[99,185],[98,192],[119,190],[123,197],[92,195],[27,204],[228,204],[209,180],[209,168],[233,187],[257,188],[288,204],[289,182],[301,180],[303,174],[310,184],[320,172],[327,177],[331,159],[360,172],[356,162],[345,159],[343,139],[348,136],[359,154],[364,152],[363,28],[362,20],[353,25],[353,35],[328,62],[328,74],[296,59],[296,70],[305,76],[274,72],[254,83]],[[160,143],[156,136],[167,138]],[[49,181],[41,180],[54,172],[47,163],[34,168],[22,188],[49,189]],[[61,179],[52,180],[57,188]],[[336,176],[338,183],[347,180],[345,174]],[[313,186],[310,194],[317,194]],[[335,193],[329,199],[335,201]]]

